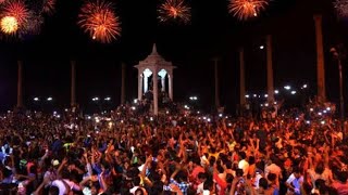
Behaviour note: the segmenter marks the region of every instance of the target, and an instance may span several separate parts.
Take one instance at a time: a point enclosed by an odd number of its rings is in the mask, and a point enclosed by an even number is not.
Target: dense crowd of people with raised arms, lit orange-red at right
[[[0,194],[348,194],[346,133],[326,107],[270,118],[144,107],[2,115]]]

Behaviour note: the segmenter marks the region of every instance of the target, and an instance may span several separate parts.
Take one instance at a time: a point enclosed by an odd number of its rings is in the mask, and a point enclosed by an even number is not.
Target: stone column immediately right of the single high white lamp
[[[266,36],[268,52],[268,101],[274,101],[274,83],[273,83],[273,58],[272,58],[272,36]]]

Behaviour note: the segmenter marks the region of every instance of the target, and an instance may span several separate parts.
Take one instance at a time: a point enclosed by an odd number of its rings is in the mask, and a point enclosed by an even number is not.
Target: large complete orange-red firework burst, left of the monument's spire
[[[112,3],[97,0],[80,9],[77,24],[99,42],[109,43],[121,35],[120,20]]]

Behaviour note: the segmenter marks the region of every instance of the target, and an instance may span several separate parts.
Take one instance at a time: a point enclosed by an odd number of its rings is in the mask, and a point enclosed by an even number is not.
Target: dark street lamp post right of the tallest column
[[[337,63],[338,63],[340,123],[341,123],[341,130],[345,136],[345,100],[344,100],[344,81],[341,76],[341,60],[346,57],[346,52],[343,44],[338,44],[337,49],[332,48],[330,52],[333,54],[334,58],[337,60]]]

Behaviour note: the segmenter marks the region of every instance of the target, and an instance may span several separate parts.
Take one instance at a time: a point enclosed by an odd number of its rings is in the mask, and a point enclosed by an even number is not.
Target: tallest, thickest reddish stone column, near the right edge
[[[322,101],[326,99],[325,92],[325,67],[324,67],[324,49],[323,49],[323,31],[322,31],[322,15],[314,15],[315,24],[315,40],[316,40],[316,84],[318,98]]]

